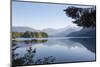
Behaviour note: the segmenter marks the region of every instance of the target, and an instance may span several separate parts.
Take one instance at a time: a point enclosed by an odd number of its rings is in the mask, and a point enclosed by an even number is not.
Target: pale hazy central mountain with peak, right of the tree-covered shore
[[[47,28],[47,29],[43,29],[43,32],[48,33],[49,36],[53,36],[53,37],[64,37],[66,35],[68,35],[71,32],[76,31],[77,28],[61,28],[61,29],[51,29],[51,28]]]

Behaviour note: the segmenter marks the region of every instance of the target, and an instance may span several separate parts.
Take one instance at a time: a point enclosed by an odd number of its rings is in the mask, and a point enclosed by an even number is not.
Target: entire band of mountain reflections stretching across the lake
[[[14,41],[13,41],[14,42]],[[71,39],[47,39],[47,40],[25,40],[18,41],[17,44],[21,47],[28,47],[32,45],[43,44],[45,46],[61,45],[66,48],[87,48],[89,51],[96,51],[95,38],[71,38]]]

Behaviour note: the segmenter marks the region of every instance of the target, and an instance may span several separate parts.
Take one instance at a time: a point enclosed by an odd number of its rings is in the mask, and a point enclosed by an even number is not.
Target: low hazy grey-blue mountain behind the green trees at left
[[[30,27],[12,27],[12,32],[26,32],[26,31],[36,32],[39,30],[32,29]]]

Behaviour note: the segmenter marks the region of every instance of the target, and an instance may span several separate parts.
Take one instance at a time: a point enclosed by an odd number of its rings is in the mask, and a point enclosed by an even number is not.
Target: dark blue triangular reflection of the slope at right
[[[80,38],[80,39],[70,39],[71,41],[81,43],[88,50],[96,52],[96,39],[95,38]]]

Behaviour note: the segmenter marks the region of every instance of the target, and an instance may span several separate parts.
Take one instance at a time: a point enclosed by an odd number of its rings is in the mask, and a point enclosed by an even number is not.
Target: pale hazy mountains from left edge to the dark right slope
[[[77,28],[60,28],[60,29],[52,29],[52,28],[46,28],[43,30],[37,30],[37,29],[33,29],[30,27],[12,27],[12,32],[26,32],[26,31],[30,31],[30,32],[45,32],[48,34],[48,36],[52,36],[52,37],[64,37],[68,34],[70,34],[71,32],[75,32],[79,29]]]

